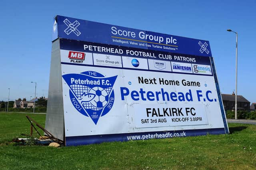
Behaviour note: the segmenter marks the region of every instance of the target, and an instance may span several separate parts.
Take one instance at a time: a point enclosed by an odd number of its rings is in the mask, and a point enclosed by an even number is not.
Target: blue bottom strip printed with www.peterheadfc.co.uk
[[[194,129],[180,131],[154,131],[142,133],[121,133],[108,135],[90,135],[66,137],[66,146],[90,145],[95,143],[113,142],[113,141],[130,141],[130,140],[146,140],[146,139],[164,139],[172,137],[188,137],[200,135],[218,135],[225,134],[224,128],[214,129]]]

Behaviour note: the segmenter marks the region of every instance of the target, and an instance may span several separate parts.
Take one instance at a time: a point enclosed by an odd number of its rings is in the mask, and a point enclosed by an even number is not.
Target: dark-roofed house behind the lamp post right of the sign
[[[221,94],[225,111],[235,109],[236,97],[233,94]],[[250,102],[243,96],[237,95],[237,110],[250,110]]]

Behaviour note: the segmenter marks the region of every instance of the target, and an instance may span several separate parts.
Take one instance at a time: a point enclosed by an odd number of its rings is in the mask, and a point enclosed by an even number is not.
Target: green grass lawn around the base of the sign
[[[229,124],[229,135],[51,148],[8,143],[30,133],[24,113],[0,113],[1,169],[256,169],[256,126]],[[44,125],[45,115],[29,114]]]

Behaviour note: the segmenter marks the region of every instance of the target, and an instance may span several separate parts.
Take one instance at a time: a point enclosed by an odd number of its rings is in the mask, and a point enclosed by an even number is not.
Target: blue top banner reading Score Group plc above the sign
[[[53,35],[58,38],[121,45],[171,53],[212,56],[209,41],[120,27],[65,16],[54,18]],[[52,41],[56,36],[53,36]]]

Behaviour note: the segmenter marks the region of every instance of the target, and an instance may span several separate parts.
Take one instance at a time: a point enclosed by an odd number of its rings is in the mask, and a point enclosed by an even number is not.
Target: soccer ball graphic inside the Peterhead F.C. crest
[[[89,93],[95,94],[94,99],[90,101],[93,106],[102,108],[108,104],[108,93],[104,88],[94,87]]]

